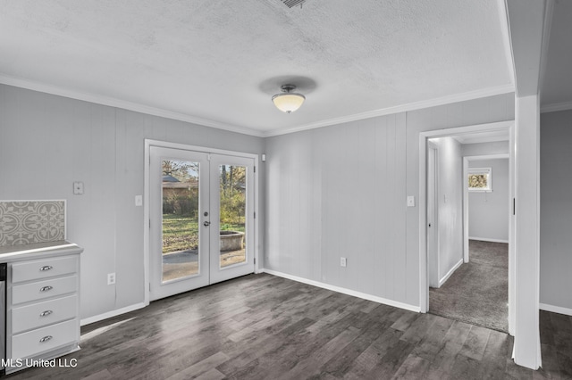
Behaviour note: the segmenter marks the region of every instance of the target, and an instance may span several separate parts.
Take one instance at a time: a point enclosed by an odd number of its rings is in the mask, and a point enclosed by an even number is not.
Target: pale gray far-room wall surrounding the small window
[[[469,238],[509,243],[509,159],[469,161],[468,167],[492,169],[492,192],[468,193]]]

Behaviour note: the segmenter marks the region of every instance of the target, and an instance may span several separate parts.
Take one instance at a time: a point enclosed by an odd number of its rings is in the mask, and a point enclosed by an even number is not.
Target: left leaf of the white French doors
[[[208,154],[150,147],[150,299],[209,284]]]

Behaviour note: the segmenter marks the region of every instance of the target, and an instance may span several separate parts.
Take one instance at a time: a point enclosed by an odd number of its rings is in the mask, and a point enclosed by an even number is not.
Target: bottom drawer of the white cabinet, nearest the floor
[[[11,358],[29,358],[40,352],[52,350],[78,340],[77,319],[38,328],[28,333],[13,335]]]

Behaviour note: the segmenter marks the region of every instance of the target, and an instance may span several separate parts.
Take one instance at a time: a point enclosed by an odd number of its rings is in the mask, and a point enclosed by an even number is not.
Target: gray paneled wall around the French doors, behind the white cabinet
[[[0,199],[67,199],[68,239],[85,248],[81,318],[144,301],[143,208],[134,196],[144,190],[145,138],[264,147],[259,137],[0,85]],[[260,173],[264,184],[264,166]],[[85,194],[72,194],[73,181]],[[106,283],[111,272],[115,285]]]

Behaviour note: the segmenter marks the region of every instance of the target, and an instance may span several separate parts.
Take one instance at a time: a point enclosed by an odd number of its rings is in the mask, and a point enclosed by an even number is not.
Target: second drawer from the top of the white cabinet
[[[56,295],[76,292],[78,277],[69,276],[37,281],[24,285],[13,285],[12,304],[43,300]]]

